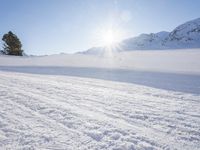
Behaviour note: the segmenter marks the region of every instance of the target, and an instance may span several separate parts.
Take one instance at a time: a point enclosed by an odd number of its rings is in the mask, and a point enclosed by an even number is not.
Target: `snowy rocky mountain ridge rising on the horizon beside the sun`
[[[141,34],[125,39],[119,45],[120,49],[115,51],[200,48],[200,18],[186,22],[172,32]],[[82,53],[101,54],[104,51],[105,47],[95,47]]]

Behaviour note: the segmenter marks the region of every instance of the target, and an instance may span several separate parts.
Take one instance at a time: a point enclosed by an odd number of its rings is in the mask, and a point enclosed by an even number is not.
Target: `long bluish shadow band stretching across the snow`
[[[159,89],[200,94],[200,76],[122,69],[82,67],[1,66],[2,71],[45,75],[67,75],[127,82]]]

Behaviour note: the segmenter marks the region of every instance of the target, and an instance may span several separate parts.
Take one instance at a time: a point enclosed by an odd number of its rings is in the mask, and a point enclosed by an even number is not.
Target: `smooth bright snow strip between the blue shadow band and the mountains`
[[[0,66],[89,67],[200,74],[200,49],[111,53],[108,57],[60,54],[42,57],[0,56]]]

